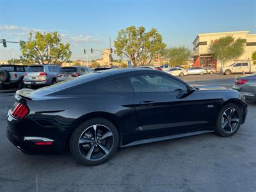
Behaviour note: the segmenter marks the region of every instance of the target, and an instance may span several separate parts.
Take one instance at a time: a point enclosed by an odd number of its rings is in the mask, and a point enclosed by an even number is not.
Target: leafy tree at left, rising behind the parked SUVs
[[[54,31],[40,33],[30,31],[28,42],[21,45],[22,60],[31,60],[38,64],[50,64],[67,61],[71,57],[70,45],[61,43],[60,35]]]

